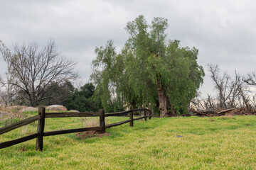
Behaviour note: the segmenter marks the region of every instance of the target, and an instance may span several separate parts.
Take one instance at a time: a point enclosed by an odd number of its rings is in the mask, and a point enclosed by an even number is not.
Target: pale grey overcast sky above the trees
[[[127,40],[127,22],[144,15],[168,19],[169,39],[199,49],[198,63],[206,72],[203,96],[213,90],[206,64],[219,64],[233,74],[256,70],[256,1],[157,0],[64,1],[0,0],[0,40],[14,43],[53,39],[63,57],[78,62],[82,84],[90,79],[95,47],[113,40],[120,49]],[[0,59],[0,74],[6,64]]]

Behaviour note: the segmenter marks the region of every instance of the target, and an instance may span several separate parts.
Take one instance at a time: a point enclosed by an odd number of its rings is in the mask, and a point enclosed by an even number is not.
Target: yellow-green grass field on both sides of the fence
[[[88,125],[94,121],[52,118],[45,131]],[[36,126],[7,132],[0,142],[36,132]],[[84,140],[44,137],[43,152],[36,152],[36,140],[0,149],[0,169],[256,169],[256,116],[152,118],[107,132],[110,137]]]

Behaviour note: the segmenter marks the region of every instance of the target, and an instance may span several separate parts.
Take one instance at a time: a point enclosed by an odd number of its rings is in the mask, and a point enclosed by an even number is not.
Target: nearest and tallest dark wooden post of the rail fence
[[[41,116],[41,119],[38,120],[38,137],[36,138],[36,150],[43,151],[43,130],[45,125],[46,118],[46,108],[38,108],[38,115]]]

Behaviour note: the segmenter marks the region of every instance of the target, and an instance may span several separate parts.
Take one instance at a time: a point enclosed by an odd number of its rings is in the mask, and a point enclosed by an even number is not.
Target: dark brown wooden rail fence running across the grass
[[[140,116],[139,118],[134,118],[135,112],[143,112],[144,114],[142,116]],[[120,115],[125,115],[127,113],[129,113],[129,120],[124,120],[122,122],[105,125],[105,117],[120,116]],[[149,113],[149,114],[147,115],[146,113]],[[55,130],[55,131],[44,132],[46,118],[68,118],[68,117],[100,117],[100,126],[99,127],[91,127],[91,128],[78,128],[78,129]],[[38,115],[35,115],[31,118],[26,118],[24,120],[21,120],[17,123],[11,124],[11,125],[7,125],[4,128],[0,128],[0,135],[2,135],[6,132],[9,132],[16,128],[20,128],[24,125],[28,125],[28,124],[33,123],[36,120],[38,120],[37,132],[32,135],[18,138],[16,140],[1,142],[0,149],[5,148],[5,147],[11,147],[12,145],[16,145],[21,142],[26,142],[28,140],[33,140],[36,138],[36,150],[43,151],[43,137],[44,136],[61,135],[61,134],[73,133],[73,132],[85,132],[85,131],[91,131],[91,130],[97,130],[97,131],[100,131],[103,133],[103,132],[105,132],[106,128],[111,128],[114,126],[122,125],[124,123],[129,123],[129,126],[133,126],[134,120],[139,120],[139,119],[143,119],[143,118],[145,121],[146,121],[146,118],[151,119],[151,111],[146,108],[136,108],[136,109],[131,109],[130,111],[123,111],[123,112],[117,112],[117,113],[105,113],[105,111],[103,109],[100,110],[100,113],[88,113],[88,112],[46,113],[46,108],[38,108]]]

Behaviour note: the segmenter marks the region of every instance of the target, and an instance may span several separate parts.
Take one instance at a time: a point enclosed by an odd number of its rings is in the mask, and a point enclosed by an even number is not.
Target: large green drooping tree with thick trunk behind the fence
[[[166,38],[167,20],[144,16],[127,23],[129,39],[117,53],[112,40],[96,47],[91,78],[97,85],[95,97],[110,111],[123,106],[151,106],[161,117],[186,111],[203,83],[203,67],[197,63],[198,50],[180,47]]]

